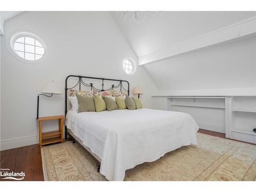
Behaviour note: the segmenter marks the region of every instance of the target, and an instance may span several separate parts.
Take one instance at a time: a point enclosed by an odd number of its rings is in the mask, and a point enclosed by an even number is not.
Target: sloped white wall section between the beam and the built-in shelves
[[[256,94],[256,37],[144,66],[165,95]]]

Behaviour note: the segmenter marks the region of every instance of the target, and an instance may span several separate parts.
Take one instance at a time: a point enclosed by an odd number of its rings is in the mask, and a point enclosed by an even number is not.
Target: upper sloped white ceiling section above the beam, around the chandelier
[[[168,11],[160,12],[151,23],[126,22],[118,12],[111,12],[116,24],[138,57],[226,27],[256,15],[255,11]]]

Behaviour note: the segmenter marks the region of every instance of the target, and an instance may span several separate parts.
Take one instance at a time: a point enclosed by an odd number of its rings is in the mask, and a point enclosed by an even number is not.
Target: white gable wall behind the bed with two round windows
[[[6,39],[18,31],[45,41],[49,54],[44,62],[23,63],[9,53]],[[122,69],[125,57],[136,62],[137,57],[109,12],[26,12],[5,23],[1,48],[1,150],[37,142],[36,97],[51,79],[63,94],[70,74],[126,79],[131,87],[143,87],[142,102],[152,107],[156,88],[144,68],[131,76]],[[64,95],[41,97],[39,115],[64,114],[64,104]],[[44,131],[53,125],[43,124]]]

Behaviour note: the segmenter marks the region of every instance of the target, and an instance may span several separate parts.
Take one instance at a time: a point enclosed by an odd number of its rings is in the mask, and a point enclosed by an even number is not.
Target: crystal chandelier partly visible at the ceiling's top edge
[[[160,11],[120,11],[126,22],[135,23],[136,25],[152,22],[159,16],[159,12]]]

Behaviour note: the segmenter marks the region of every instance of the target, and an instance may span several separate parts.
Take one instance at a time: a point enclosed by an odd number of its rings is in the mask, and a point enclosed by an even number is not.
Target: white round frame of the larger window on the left
[[[34,38],[36,40],[38,40],[40,42],[40,44],[42,45],[42,47],[44,47],[45,49],[45,53],[44,55],[42,55],[41,58],[37,59],[37,60],[27,60],[25,58],[20,57],[16,51],[14,50],[14,42],[20,38],[20,37],[31,37]],[[24,44],[25,45],[25,44]],[[35,63],[40,63],[42,61],[44,61],[46,59],[46,55],[47,55],[47,47],[45,42],[38,37],[37,35],[33,34],[33,33],[29,33],[29,32],[19,32],[19,33],[15,33],[11,38],[10,38],[10,53],[12,54],[12,56],[14,56],[16,59],[25,62],[25,63],[30,63],[30,64],[35,64]],[[25,50],[24,50],[25,52]]]

